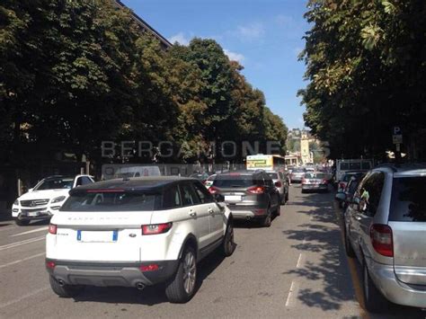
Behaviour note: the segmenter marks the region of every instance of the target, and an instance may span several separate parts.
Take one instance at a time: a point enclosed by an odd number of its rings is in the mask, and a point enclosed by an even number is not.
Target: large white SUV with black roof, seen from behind
[[[171,302],[191,299],[197,262],[217,247],[234,253],[232,215],[201,182],[144,177],[70,191],[46,241],[50,286],[75,297],[85,286],[165,282]]]

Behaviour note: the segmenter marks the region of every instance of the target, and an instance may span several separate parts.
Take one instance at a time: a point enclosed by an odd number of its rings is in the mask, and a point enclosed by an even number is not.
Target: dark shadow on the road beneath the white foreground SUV
[[[217,267],[224,261],[224,257],[220,253],[211,253],[208,257],[200,261],[198,265],[198,278],[195,294],[200,290],[204,280],[209,279],[209,275],[217,269]],[[127,309],[125,305],[138,304],[145,306],[155,306],[162,303],[167,303],[167,297],[164,293],[165,285],[159,284],[152,287],[146,287],[140,291],[137,288],[100,288],[100,287],[87,287],[84,292],[75,297],[75,302],[97,302],[109,304],[122,304],[121,311],[125,312]],[[194,294],[194,295],[195,295]],[[104,315],[108,315],[106,312]]]

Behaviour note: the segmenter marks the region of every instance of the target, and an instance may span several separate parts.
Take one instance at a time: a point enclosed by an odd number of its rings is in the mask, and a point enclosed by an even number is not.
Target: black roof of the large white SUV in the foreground
[[[147,176],[130,179],[114,179],[102,182],[93,182],[84,186],[79,186],[73,191],[93,191],[93,190],[147,190],[163,188],[173,182],[198,181],[193,178],[179,176]]]

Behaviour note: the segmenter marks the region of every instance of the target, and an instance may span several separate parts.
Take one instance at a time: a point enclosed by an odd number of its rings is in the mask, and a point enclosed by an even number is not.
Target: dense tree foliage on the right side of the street
[[[426,119],[426,3],[311,0],[306,125],[334,156],[382,156],[392,127],[415,143]]]

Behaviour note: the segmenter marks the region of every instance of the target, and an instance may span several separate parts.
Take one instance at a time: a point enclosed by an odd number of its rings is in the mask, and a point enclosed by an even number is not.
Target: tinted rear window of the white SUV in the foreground
[[[86,192],[72,194],[62,211],[152,211],[161,195],[143,192]]]

